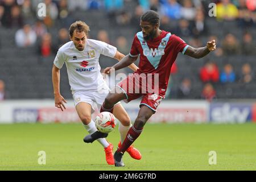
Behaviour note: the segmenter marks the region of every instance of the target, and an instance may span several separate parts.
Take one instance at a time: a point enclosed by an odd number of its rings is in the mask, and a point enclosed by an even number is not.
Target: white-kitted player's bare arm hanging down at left
[[[52,67],[52,85],[55,107],[60,108],[63,111],[63,108],[66,109],[63,102],[67,103],[67,101],[60,94],[60,69],[57,68],[54,64]]]

